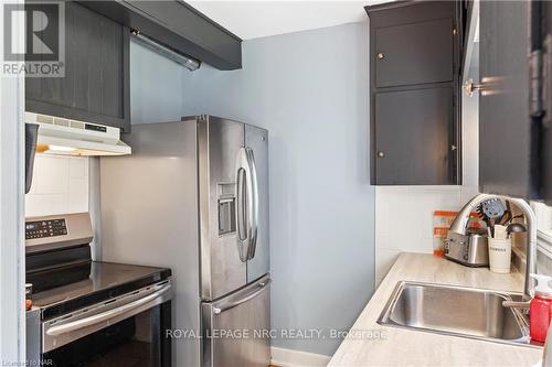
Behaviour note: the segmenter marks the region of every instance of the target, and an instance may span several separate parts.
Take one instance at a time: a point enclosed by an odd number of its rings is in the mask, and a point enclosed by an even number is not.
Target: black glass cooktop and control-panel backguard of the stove
[[[25,220],[25,276],[43,320],[167,280],[166,268],[92,260],[88,213]]]

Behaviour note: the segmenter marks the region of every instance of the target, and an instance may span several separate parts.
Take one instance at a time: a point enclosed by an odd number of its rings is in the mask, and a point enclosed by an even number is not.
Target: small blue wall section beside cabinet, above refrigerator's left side
[[[180,120],[183,66],[130,42],[130,121],[132,125]]]

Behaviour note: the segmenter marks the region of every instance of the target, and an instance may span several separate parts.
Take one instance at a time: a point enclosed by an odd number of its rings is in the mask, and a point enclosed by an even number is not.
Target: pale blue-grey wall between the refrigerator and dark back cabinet
[[[273,327],[347,330],[374,289],[368,24],[246,41],[243,65],[184,73],[184,114],[269,130]],[[273,345],[331,355],[339,343]]]

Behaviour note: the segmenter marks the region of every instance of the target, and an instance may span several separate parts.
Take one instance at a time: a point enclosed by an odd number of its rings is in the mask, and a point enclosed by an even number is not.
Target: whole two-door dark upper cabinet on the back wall
[[[365,9],[372,184],[460,184],[461,3]]]

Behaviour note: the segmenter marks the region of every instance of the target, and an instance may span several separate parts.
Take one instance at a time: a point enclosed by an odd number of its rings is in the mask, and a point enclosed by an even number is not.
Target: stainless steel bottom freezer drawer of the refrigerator
[[[270,364],[270,278],[202,303],[203,367]]]

